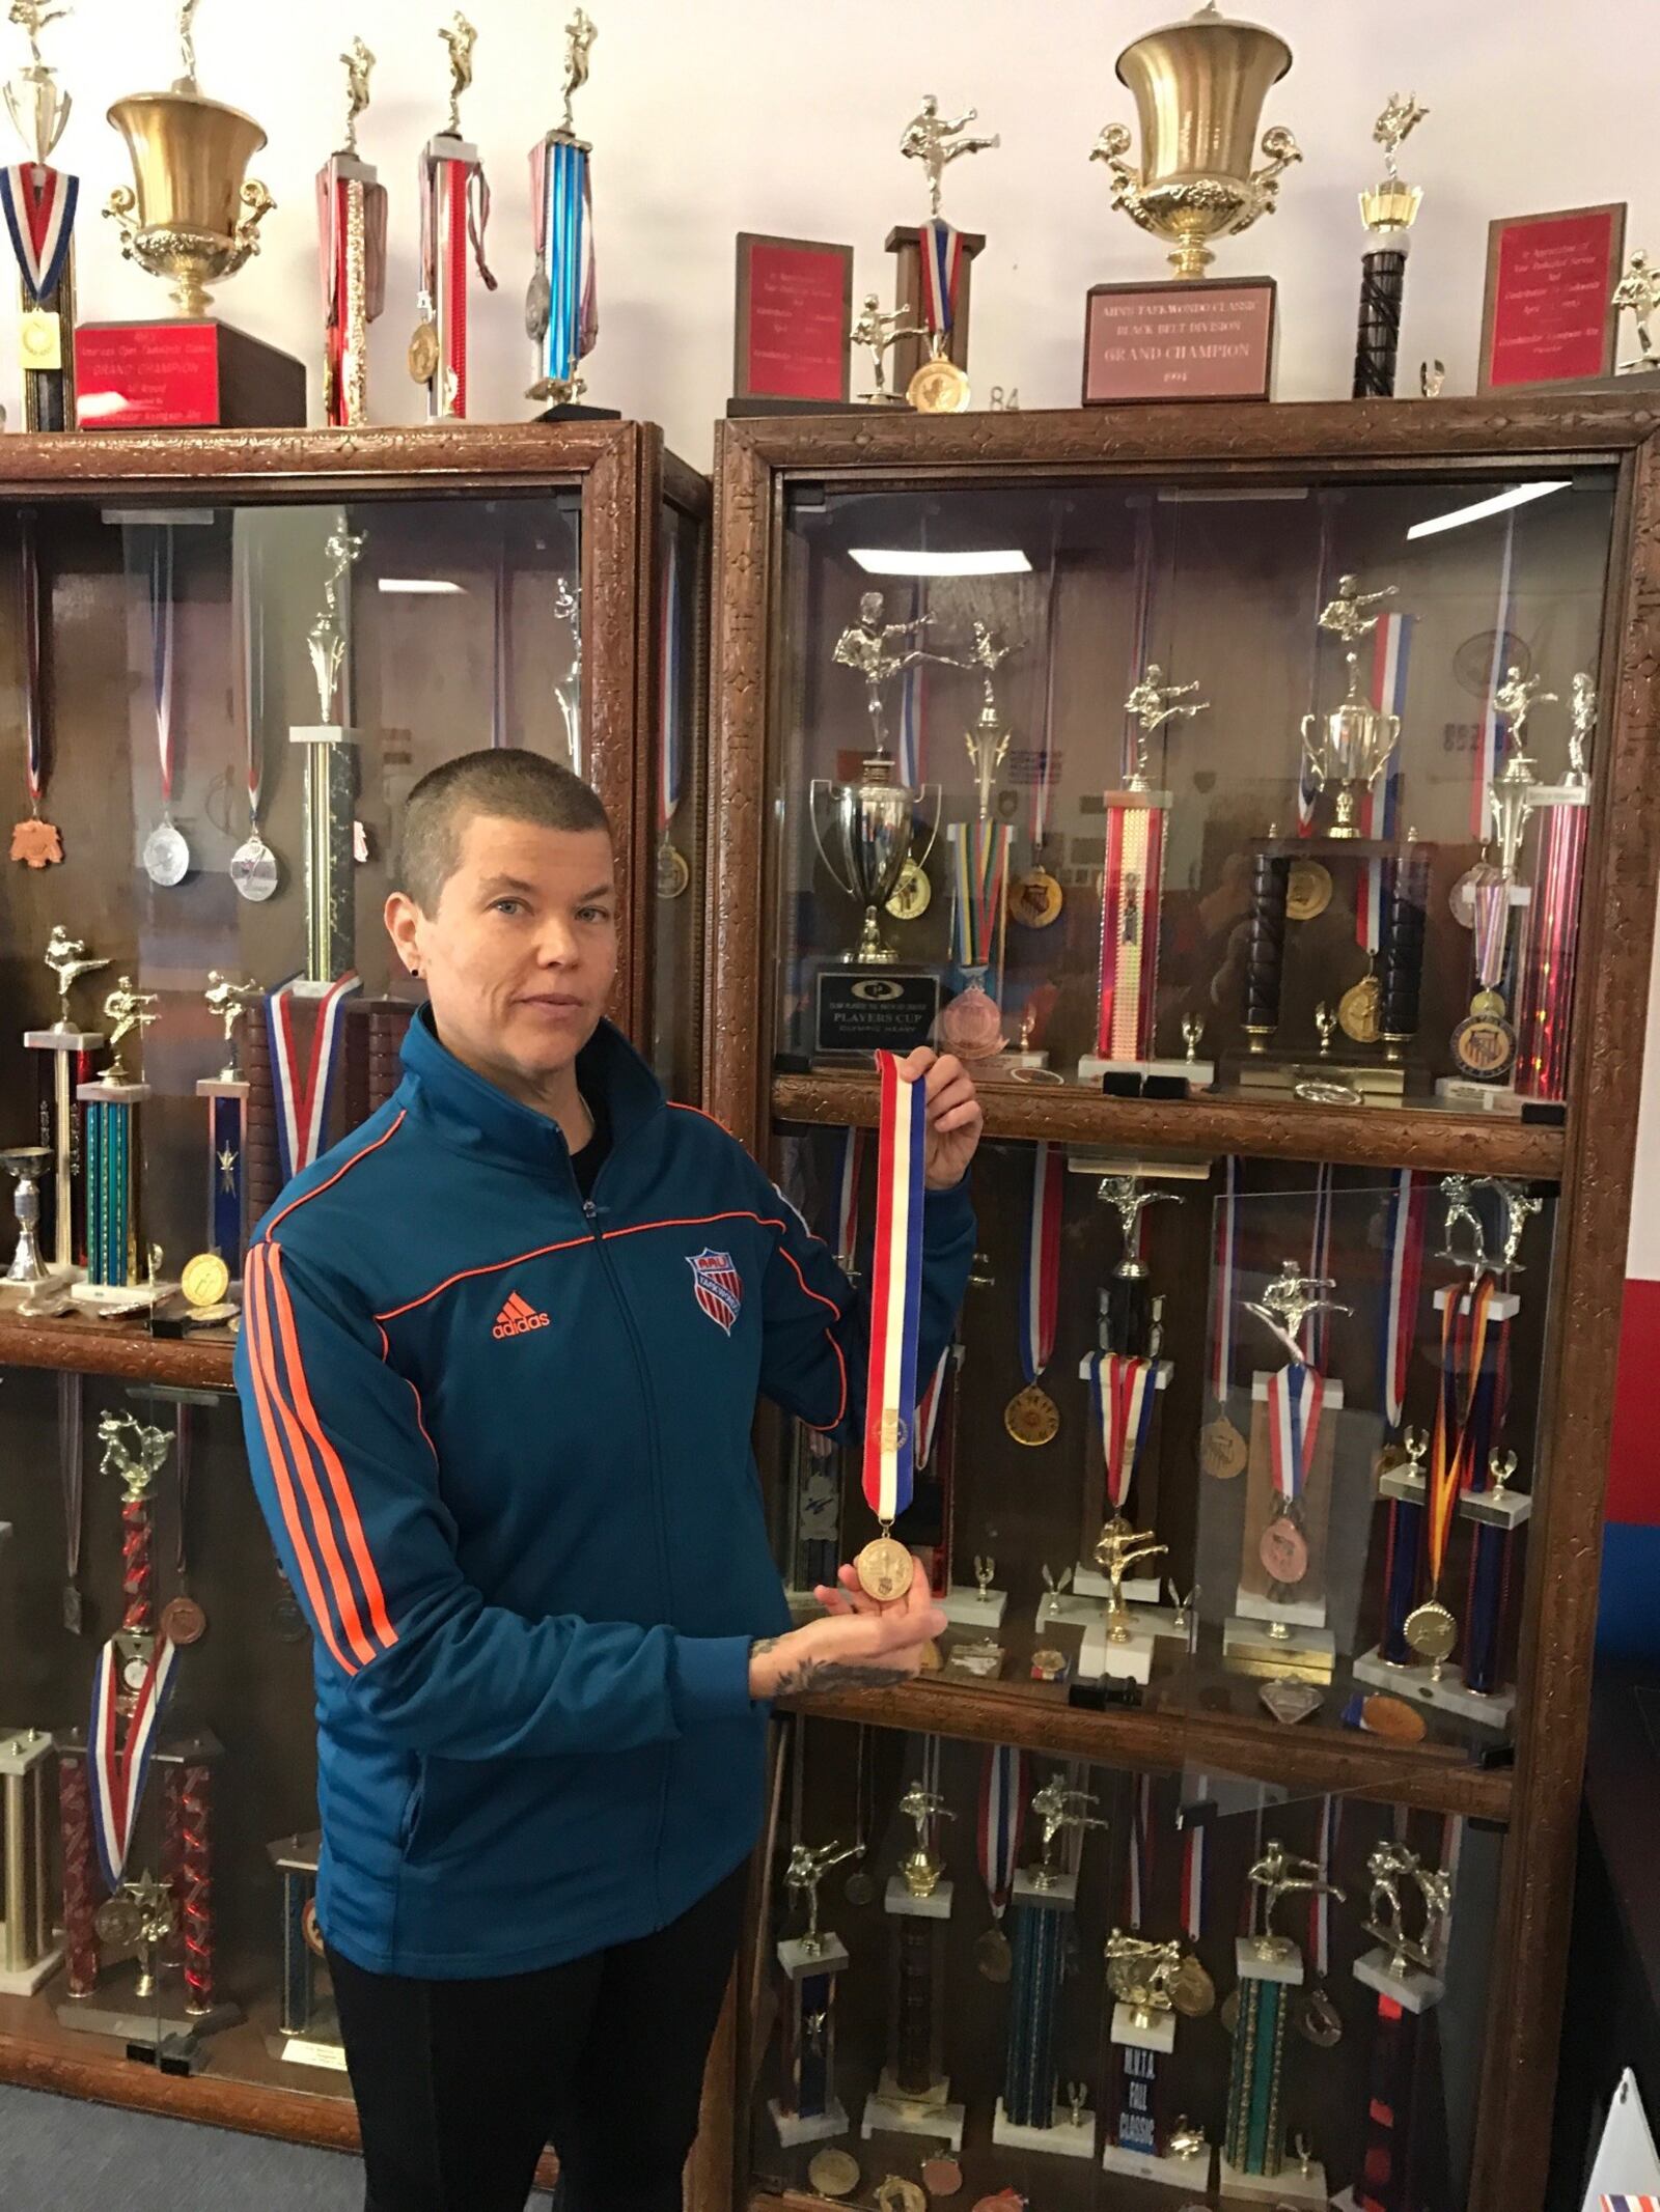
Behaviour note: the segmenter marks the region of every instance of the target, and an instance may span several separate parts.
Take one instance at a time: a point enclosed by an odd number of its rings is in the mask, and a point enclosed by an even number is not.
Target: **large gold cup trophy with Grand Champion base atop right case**
[[[1118,77],[1135,95],[1142,166],[1127,159],[1133,139],[1118,122],[1102,128],[1091,161],[1107,164],[1113,206],[1173,248],[1171,268],[1184,288],[1204,279],[1215,239],[1275,212],[1282,175],[1301,161],[1297,139],[1275,124],[1262,135],[1255,166],[1264,102],[1288,69],[1284,38],[1231,22],[1215,0],[1118,55]],[[1270,279],[1206,281],[1191,314],[1171,285],[1096,285],[1089,303],[1087,400],[1268,396]],[[1237,330],[1220,330],[1217,314],[1233,316]]]

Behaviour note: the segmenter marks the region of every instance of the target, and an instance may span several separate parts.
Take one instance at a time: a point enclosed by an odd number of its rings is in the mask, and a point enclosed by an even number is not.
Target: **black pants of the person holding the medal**
[[[418,1982],[330,1949],[365,2212],[525,2212],[549,2141],[562,2212],[679,2212],[746,1880],[540,1973]]]

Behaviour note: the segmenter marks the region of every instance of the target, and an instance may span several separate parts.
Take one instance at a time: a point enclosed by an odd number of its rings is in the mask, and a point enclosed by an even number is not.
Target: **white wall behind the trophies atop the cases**
[[[378,420],[418,420],[403,369],[414,323],[416,157],[445,113],[438,22],[454,0],[201,0],[204,88],[248,108],[270,146],[257,173],[277,195],[266,248],[224,285],[226,319],[308,361],[319,352],[312,177],[339,142],[341,46],[361,31],[378,55],[363,150],[392,190],[390,303],[374,334]],[[1282,398],[1346,396],[1355,347],[1355,195],[1374,181],[1372,119],[1390,91],[1430,117],[1403,170],[1425,188],[1408,270],[1401,358],[1474,380],[1487,219],[1629,199],[1633,246],[1660,250],[1653,0],[1228,0],[1270,22],[1295,64],[1264,122],[1284,122],[1304,164],[1279,215],[1222,248],[1220,272],[1270,270],[1282,285]],[[491,265],[500,292],[476,303],[474,414],[525,416],[531,347],[527,150],[558,119],[567,0],[469,0],[476,84],[463,126],[496,192]],[[730,389],[733,234],[775,230],[848,241],[859,290],[892,296],[883,239],[925,212],[899,131],[923,91],[976,104],[996,153],[950,173],[945,212],[987,232],[974,276],[972,365],[981,392],[1018,385],[1027,407],[1078,398],[1082,299],[1102,279],[1158,276],[1162,254],[1109,208],[1087,155],[1102,122],[1133,124],[1113,58],[1164,20],[1160,0],[589,0],[600,35],[580,95],[595,146],[600,347],[593,398],[664,425],[706,465],[710,418]],[[162,288],[124,265],[100,206],[126,175],[104,124],[122,93],[175,75],[173,0],[77,0],[46,33],[75,115],[62,166],[84,179],[82,314],[157,314]],[[22,40],[0,24],[7,69]],[[9,126],[4,126],[9,137]],[[7,155],[11,159],[11,155]],[[1627,325],[1629,327],[1629,325]],[[9,347],[7,347],[9,352]],[[11,374],[11,372],[7,372]],[[1403,378],[1405,385],[1405,378]],[[7,394],[15,416],[15,398]]]

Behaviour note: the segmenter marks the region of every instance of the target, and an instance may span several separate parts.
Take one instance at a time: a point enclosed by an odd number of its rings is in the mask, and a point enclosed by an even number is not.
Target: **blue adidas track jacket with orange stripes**
[[[259,1502],[317,1657],[319,1920],[378,1973],[522,1973],[664,1927],[750,1851],[790,1626],[750,1422],[854,1436],[868,1325],[823,1243],[602,1024],[560,1128],[409,1024],[396,1097],[248,1254]],[[925,1206],[923,1371],[967,1283]]]

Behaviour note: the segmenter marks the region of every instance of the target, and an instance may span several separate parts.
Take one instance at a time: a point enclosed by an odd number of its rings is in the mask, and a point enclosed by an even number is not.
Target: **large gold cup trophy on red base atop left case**
[[[179,0],[181,69],[164,93],[128,93],[108,111],[133,161],[133,184],[111,192],[104,215],[122,232],[122,257],[170,285],[175,319],[162,343],[148,323],[84,325],[77,367],[80,427],[257,429],[305,420],[301,363],[208,319],[208,285],[259,252],[274,201],[248,177],[266,133],[197,84],[195,13]],[[195,327],[195,341],[181,332]],[[166,367],[164,367],[166,361]]]

